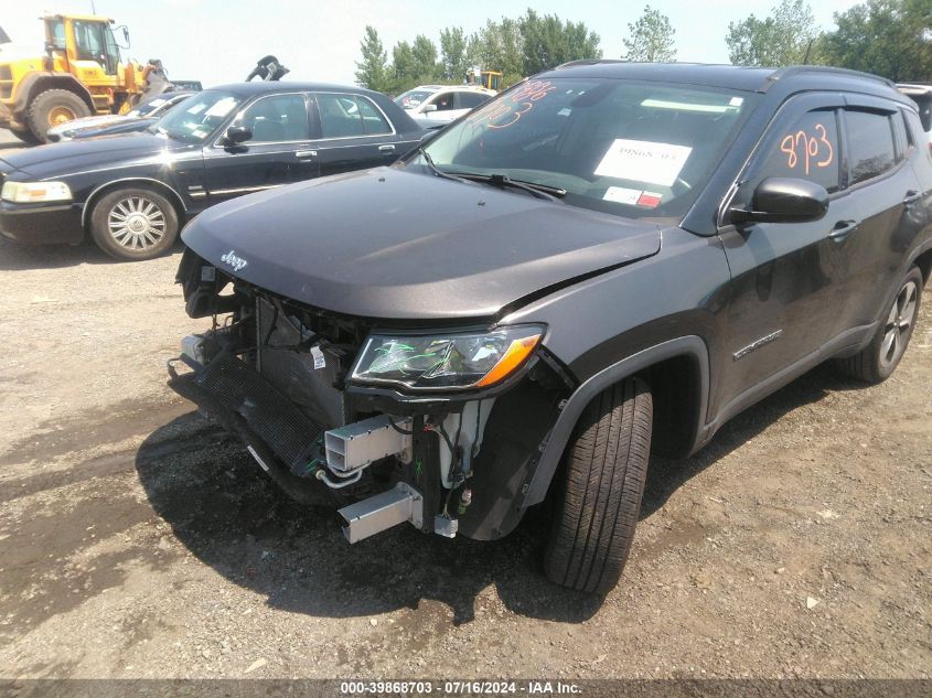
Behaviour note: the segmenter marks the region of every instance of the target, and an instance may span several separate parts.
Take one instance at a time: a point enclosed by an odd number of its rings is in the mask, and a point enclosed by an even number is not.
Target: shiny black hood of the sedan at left
[[[3,160],[33,178],[47,179],[96,168],[111,168],[190,148],[192,146],[186,143],[138,132],[26,148],[4,154]]]

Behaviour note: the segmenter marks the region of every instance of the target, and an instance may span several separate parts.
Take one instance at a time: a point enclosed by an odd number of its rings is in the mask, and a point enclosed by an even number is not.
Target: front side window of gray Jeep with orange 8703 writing
[[[838,125],[834,109],[808,111],[789,125],[776,127],[751,165],[739,200],[750,204],[751,194],[767,178],[799,178],[822,184],[829,193],[840,189]]]

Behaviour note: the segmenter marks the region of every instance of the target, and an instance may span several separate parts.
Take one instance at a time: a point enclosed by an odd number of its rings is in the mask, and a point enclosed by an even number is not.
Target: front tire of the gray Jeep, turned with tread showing
[[[640,378],[608,388],[586,408],[544,555],[551,581],[599,594],[618,583],[641,511],[652,422],[651,389]]]

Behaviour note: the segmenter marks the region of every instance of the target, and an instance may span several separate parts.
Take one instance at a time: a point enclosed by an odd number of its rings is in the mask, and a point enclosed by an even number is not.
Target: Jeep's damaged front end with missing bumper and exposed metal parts
[[[248,264],[231,251],[236,270]],[[400,523],[495,539],[574,384],[540,324],[413,330],[314,308],[189,249],[192,318],[170,386],[218,419],[292,497],[341,506],[356,543]],[[221,320],[222,319],[222,320]]]

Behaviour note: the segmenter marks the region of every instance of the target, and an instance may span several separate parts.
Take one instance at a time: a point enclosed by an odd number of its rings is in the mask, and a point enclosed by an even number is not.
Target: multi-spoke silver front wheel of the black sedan
[[[90,234],[117,259],[152,259],[178,237],[178,212],[149,189],[120,189],[105,195],[90,215]]]

